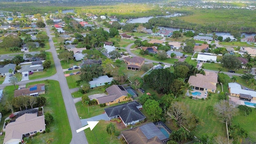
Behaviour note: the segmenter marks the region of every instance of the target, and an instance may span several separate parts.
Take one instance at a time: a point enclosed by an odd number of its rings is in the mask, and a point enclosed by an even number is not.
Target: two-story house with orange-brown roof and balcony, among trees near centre
[[[124,62],[127,64],[127,70],[140,70],[141,66],[145,63],[145,58],[138,56],[132,58],[126,57],[124,58]]]

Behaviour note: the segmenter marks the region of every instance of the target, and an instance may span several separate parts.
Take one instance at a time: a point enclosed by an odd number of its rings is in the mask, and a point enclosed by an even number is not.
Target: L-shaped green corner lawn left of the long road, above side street
[[[55,64],[54,64],[51,52],[46,52],[46,59],[52,61],[50,68],[47,68],[47,70],[44,69],[44,71],[42,71],[42,72],[34,72],[34,74],[31,74],[28,76],[30,80],[34,80],[34,79],[38,79],[38,78],[45,78],[45,77],[52,76],[52,75],[56,74],[56,68],[55,68]]]

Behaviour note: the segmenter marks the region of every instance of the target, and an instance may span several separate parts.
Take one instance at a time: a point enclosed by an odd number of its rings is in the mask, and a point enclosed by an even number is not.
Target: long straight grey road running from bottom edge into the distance
[[[46,24],[45,19],[44,19],[44,23]],[[57,74],[55,74],[54,77],[57,78],[57,80],[60,83],[60,88],[61,88],[62,96],[64,99],[66,112],[68,115],[68,121],[69,121],[70,128],[72,131],[72,140],[71,140],[70,144],[88,144],[88,141],[86,139],[84,131],[79,132],[79,133],[76,132],[76,130],[78,130],[79,128],[82,128],[82,124],[80,122],[80,118],[78,117],[78,113],[76,111],[76,106],[74,104],[73,98],[72,98],[70,90],[68,88],[68,84],[67,84],[66,78],[63,74],[63,69],[61,67],[60,60],[58,59],[57,52],[54,47],[54,43],[52,41],[53,36],[50,35],[50,31],[49,31],[47,24],[46,24],[46,33],[50,37],[50,39],[49,39],[50,50],[49,51],[52,52],[54,64],[55,64],[56,70],[57,70]]]

